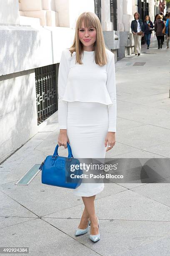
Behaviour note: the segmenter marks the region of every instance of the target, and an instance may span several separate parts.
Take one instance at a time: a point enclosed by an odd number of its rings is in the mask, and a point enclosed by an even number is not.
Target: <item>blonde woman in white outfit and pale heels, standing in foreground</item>
[[[72,53],[72,54],[70,54]],[[70,143],[75,158],[105,158],[115,145],[116,86],[114,54],[105,48],[100,20],[84,12],[77,19],[70,49],[62,51],[58,74],[58,145]],[[107,149],[106,149],[107,146]],[[100,239],[95,195],[103,183],[81,183],[72,189],[85,205],[75,235]]]

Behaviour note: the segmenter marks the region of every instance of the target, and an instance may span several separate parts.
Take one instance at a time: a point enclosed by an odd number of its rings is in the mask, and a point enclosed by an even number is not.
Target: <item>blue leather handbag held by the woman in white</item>
[[[51,186],[75,189],[79,187],[82,182],[82,178],[75,176],[82,174],[80,161],[73,157],[68,142],[68,157],[58,156],[58,147],[57,144],[53,156],[47,156],[39,167],[42,171],[41,182]],[[72,171],[72,165],[77,165],[74,171]],[[71,174],[73,174],[75,178],[71,177]]]

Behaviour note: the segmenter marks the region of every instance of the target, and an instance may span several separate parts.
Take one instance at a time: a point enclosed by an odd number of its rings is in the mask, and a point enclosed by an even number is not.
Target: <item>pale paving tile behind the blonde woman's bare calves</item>
[[[43,217],[81,218],[83,205]],[[170,221],[170,207],[130,189],[95,200],[98,218],[117,220]]]

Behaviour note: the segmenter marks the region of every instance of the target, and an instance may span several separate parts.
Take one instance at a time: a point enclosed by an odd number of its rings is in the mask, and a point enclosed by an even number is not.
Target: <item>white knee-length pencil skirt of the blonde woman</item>
[[[109,125],[107,105],[98,102],[68,102],[67,136],[74,158],[104,159]],[[86,173],[85,170],[82,171]],[[92,171],[91,171],[92,172]],[[81,183],[72,193],[90,197],[104,189],[104,183]]]

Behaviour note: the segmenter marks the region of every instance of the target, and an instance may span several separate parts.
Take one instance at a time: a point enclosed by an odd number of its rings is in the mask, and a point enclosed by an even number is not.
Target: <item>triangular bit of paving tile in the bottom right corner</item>
[[[170,236],[160,238],[159,240],[145,243],[141,246],[132,248],[119,256],[169,256],[170,255]]]

